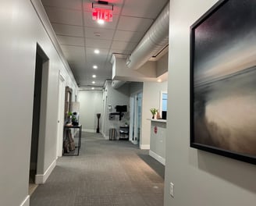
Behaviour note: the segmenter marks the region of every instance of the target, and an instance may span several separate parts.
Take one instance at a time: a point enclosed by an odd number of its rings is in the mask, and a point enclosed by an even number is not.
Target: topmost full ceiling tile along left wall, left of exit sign
[[[52,23],[65,23],[69,25],[82,26],[82,12],[76,10],[45,7],[48,18]]]

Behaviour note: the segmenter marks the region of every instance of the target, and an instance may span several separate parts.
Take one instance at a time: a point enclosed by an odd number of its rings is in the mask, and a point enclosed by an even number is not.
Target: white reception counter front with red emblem
[[[165,165],[166,120],[148,119],[151,121],[149,155]]]

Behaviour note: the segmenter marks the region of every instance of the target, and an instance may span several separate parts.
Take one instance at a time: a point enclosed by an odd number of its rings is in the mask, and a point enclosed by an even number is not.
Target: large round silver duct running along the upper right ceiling
[[[126,59],[131,69],[139,69],[148,59],[161,51],[169,43],[169,3],[152,24],[140,43]]]

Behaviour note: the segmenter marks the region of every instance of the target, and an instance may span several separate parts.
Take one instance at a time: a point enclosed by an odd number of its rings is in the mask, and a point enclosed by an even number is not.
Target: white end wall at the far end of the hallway
[[[83,125],[83,130],[88,132],[96,132],[98,119],[96,114],[103,112],[102,91],[79,91],[80,117],[79,123]]]

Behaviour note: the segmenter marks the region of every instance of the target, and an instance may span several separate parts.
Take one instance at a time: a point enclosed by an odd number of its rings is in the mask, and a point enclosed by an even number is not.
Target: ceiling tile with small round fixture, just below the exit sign
[[[115,30],[108,30],[99,27],[84,27],[85,37],[95,39],[112,40]],[[99,36],[97,36],[97,35]]]

